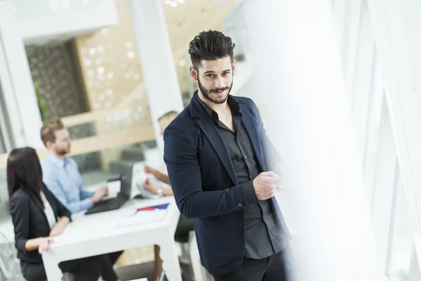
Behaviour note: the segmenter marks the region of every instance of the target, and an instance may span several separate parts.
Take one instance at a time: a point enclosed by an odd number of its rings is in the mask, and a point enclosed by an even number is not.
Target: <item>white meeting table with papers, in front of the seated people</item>
[[[169,203],[166,215],[159,221],[135,226],[117,226],[122,218],[135,212],[137,207]],[[168,280],[181,281],[180,264],[175,249],[174,233],[180,212],[173,197],[154,200],[131,200],[121,209],[84,216],[76,214],[65,232],[55,237],[42,259],[48,280],[61,280],[58,263],[98,254],[107,254],[134,247],[157,244]]]

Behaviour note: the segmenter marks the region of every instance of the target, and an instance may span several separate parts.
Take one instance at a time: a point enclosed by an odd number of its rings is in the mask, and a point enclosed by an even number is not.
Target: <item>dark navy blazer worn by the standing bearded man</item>
[[[239,103],[260,171],[273,170],[280,159],[267,138],[258,107],[250,98],[233,98]],[[213,275],[232,273],[243,261],[243,209],[248,202],[225,143],[196,95],[166,128],[163,141],[175,201],[182,216],[194,218],[202,265]],[[276,220],[287,230],[276,199],[269,202]]]

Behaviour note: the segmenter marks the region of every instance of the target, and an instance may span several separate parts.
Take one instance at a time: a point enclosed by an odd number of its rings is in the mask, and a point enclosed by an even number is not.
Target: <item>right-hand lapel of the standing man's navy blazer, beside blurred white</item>
[[[248,138],[250,139],[251,146],[255,152],[255,157],[260,164],[263,171],[266,171],[265,159],[263,159],[262,142],[260,141],[259,124],[250,115],[248,109],[240,104],[240,112],[242,115],[241,122],[246,129]]]

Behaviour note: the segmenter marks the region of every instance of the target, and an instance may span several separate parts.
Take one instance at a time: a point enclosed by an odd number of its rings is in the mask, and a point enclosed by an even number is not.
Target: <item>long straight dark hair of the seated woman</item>
[[[42,170],[34,148],[15,148],[7,159],[9,199],[22,188],[41,201]],[[42,201],[41,201],[42,202]]]

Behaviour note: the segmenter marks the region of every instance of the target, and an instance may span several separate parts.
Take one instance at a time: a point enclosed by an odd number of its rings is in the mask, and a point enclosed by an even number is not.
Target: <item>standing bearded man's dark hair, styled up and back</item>
[[[189,54],[192,65],[199,71],[202,60],[218,60],[234,55],[235,44],[230,37],[216,30],[203,31],[194,37],[189,44]]]

